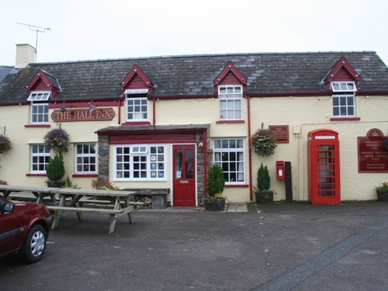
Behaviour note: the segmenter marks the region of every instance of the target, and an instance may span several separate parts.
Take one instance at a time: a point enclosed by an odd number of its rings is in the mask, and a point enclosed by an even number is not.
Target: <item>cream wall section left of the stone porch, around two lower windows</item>
[[[6,134],[10,138],[13,148],[0,154],[0,179],[14,185],[44,186],[46,176],[26,176],[31,170],[31,144],[43,143],[44,135],[56,128],[56,123],[50,122],[50,128],[26,128],[30,124],[29,105],[0,106],[0,127],[6,127]],[[113,107],[115,116],[109,121],[62,122],[62,128],[70,135],[70,150],[64,153],[65,178],[69,176],[73,184],[78,187],[91,188],[92,179],[73,178],[75,173],[75,143],[96,143],[97,129],[110,125],[118,125],[117,107]],[[49,110],[49,116],[52,110]],[[49,118],[51,120],[51,118]],[[98,150],[98,149],[97,149]],[[51,153],[51,156],[54,154]]]

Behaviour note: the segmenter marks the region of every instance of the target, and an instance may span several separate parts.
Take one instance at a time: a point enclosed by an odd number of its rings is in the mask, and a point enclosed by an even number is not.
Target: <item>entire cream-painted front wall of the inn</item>
[[[267,165],[271,175],[271,189],[277,194],[275,200],[285,199],[284,180],[276,180],[275,162],[290,161],[294,200],[307,200],[307,133],[313,129],[333,129],[339,132],[341,198],[342,200],[376,199],[373,188],[387,180],[387,173],[358,173],[357,136],[366,136],[368,130],[377,128],[387,134],[388,96],[357,96],[356,116],[358,121],[331,121],[331,97],[253,97],[251,105],[251,133],[269,125],[288,125],[289,140],[287,144],[278,144],[275,154],[261,157],[252,152],[252,177],[249,177],[248,157],[248,123],[247,99],[243,98],[242,113],[245,123],[217,124],[219,119],[219,100],[217,98],[158,100],[156,103],[156,125],[210,124],[210,147],[214,138],[242,137],[245,139],[245,182],[250,178],[256,185],[256,175],[260,162]],[[148,120],[152,123],[152,101],[149,102]],[[95,131],[110,125],[117,126],[116,115],[112,121],[63,122],[62,127],[70,134],[72,143],[96,142]],[[0,154],[0,178],[10,184],[41,186],[46,177],[27,177],[30,172],[29,143],[41,142],[50,128],[25,128],[30,122],[30,106],[0,106],[0,127],[6,127],[13,149]],[[49,112],[51,114],[51,110]],[[121,107],[121,122],[125,122],[125,106]],[[294,126],[300,127],[300,134],[294,134]],[[146,182],[147,188],[171,187],[171,145],[168,146],[167,180],[163,182]],[[74,145],[64,154],[66,175],[71,178],[74,173]],[[26,162],[28,161],[28,162]],[[111,156],[111,166],[113,160]],[[112,171],[111,171],[112,175]],[[93,178],[71,178],[73,183],[82,188],[90,188]],[[111,177],[113,179],[113,177]],[[143,182],[114,182],[121,188],[145,187]],[[224,195],[231,202],[249,201],[249,187],[225,188]],[[169,197],[171,199],[171,197]]]

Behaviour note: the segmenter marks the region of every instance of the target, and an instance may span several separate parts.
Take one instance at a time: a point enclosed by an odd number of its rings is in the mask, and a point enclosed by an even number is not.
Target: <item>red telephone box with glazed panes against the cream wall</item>
[[[307,138],[308,201],[340,204],[338,132],[316,129]]]

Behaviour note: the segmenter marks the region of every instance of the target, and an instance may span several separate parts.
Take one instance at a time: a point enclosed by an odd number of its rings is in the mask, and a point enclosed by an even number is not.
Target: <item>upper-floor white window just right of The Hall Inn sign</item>
[[[125,90],[127,121],[147,121],[148,89]]]

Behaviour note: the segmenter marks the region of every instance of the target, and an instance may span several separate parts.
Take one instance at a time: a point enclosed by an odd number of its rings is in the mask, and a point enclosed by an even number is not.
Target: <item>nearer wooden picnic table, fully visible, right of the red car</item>
[[[49,210],[54,211],[54,222],[52,228],[58,226],[59,220],[61,218],[61,211],[74,211],[77,212],[79,220],[82,220],[82,212],[95,212],[95,213],[106,213],[109,214],[111,224],[109,227],[109,233],[114,231],[114,226],[116,224],[116,219],[119,216],[128,215],[129,223],[133,223],[132,211],[133,206],[130,205],[129,199],[136,192],[134,191],[115,191],[115,190],[95,190],[95,189],[71,189],[71,188],[61,188],[54,191],[51,191],[53,194],[58,194],[60,201],[58,206],[47,206]],[[69,199],[70,198],[70,199]],[[82,200],[81,200],[82,198]],[[95,201],[97,206],[98,202],[101,200],[108,200],[110,204],[113,204],[112,209],[101,209],[101,207],[82,207],[82,203],[87,201]],[[99,200],[94,200],[97,198]],[[67,200],[67,203],[66,203]],[[81,201],[80,201],[81,200]]]

